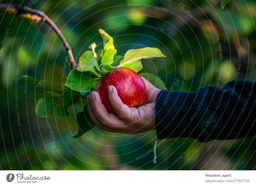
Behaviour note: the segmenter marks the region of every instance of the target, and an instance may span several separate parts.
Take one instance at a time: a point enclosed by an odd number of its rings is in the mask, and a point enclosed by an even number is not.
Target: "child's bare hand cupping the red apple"
[[[129,108],[118,96],[116,88],[112,85],[108,86],[109,100],[119,116],[106,113],[98,92],[93,91],[86,97],[87,111],[99,129],[124,134],[138,134],[155,129],[155,104],[160,89],[154,87],[145,78],[142,77],[142,79],[147,87],[148,101],[147,104],[138,108]]]

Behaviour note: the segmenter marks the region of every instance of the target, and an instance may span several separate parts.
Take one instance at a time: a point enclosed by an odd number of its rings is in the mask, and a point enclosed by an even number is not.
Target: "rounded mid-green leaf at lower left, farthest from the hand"
[[[36,114],[41,118],[50,118],[58,99],[50,94],[45,94],[36,103]]]

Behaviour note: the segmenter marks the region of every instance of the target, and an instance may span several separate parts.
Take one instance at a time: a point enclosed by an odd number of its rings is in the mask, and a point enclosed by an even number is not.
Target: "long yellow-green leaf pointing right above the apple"
[[[129,67],[128,64],[135,61],[140,61],[141,59],[161,58],[161,57],[165,57],[165,56],[157,48],[145,47],[141,49],[131,49],[125,53],[124,59],[120,61],[120,64],[118,65],[118,67],[121,67],[121,66]]]

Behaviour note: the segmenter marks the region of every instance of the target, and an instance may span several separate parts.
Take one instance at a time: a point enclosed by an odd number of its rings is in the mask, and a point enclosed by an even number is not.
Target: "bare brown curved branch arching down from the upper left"
[[[0,12],[8,12],[10,14],[19,15],[20,17],[31,19],[36,23],[40,20],[47,23],[56,32],[56,34],[59,36],[60,40],[62,41],[63,45],[65,46],[65,49],[68,53],[68,58],[69,58],[68,65],[72,65],[72,69],[76,68],[76,61],[73,57],[71,48],[67,40],[65,39],[63,34],[60,32],[60,29],[55,25],[55,23],[47,15],[45,15],[44,12],[41,12],[36,9],[32,9],[28,6],[19,5],[19,4],[0,4]]]

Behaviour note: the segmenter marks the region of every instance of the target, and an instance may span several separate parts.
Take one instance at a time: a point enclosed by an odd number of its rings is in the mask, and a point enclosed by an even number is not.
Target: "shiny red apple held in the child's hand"
[[[109,85],[116,87],[118,96],[129,107],[142,106],[148,100],[147,88],[140,75],[130,68],[117,67],[106,74],[95,88],[109,113],[116,114],[108,97]]]

